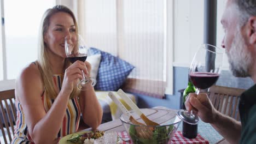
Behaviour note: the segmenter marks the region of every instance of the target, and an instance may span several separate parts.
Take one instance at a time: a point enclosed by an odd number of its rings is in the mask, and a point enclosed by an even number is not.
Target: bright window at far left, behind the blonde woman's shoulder
[[[14,88],[14,80],[28,63],[37,59],[39,23],[50,1],[1,0],[0,90]]]

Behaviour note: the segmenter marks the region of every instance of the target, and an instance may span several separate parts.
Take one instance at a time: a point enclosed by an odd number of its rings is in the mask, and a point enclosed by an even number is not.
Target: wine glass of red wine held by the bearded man
[[[217,82],[222,68],[223,56],[223,49],[210,44],[202,44],[197,50],[189,68],[189,77],[196,87],[195,93],[197,95],[201,89],[209,88]],[[199,122],[198,116],[193,111],[179,110],[177,115],[182,121],[189,124]]]

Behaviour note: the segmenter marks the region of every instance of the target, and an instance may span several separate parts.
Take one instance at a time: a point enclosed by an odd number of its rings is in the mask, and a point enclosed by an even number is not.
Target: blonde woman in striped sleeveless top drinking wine
[[[82,70],[90,75],[88,62],[66,61],[64,40],[78,35],[71,10],[63,5],[45,11],[39,33],[39,55],[16,80],[18,112],[12,143],[57,143],[75,133],[80,115],[92,129],[101,123],[102,109],[94,88],[79,91]]]

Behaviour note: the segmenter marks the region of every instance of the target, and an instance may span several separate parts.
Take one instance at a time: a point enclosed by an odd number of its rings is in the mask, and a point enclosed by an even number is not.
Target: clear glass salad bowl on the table
[[[176,132],[181,119],[176,115],[176,110],[167,109],[141,109],[151,121],[160,125],[135,125],[130,122],[129,117],[124,113],[120,115],[120,120],[123,123],[127,134],[130,136],[133,143],[168,143]],[[138,122],[144,123],[143,120],[134,112],[130,111],[131,115],[137,119]],[[139,130],[151,130],[153,135],[150,137],[139,136]],[[147,133],[146,132],[146,133]]]

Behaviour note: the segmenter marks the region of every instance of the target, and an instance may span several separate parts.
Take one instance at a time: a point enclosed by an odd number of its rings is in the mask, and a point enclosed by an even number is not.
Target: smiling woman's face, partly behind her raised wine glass
[[[55,56],[65,58],[65,37],[76,39],[74,21],[67,13],[56,13],[49,19],[49,26],[44,34],[44,43]]]

